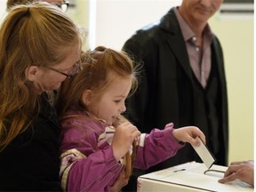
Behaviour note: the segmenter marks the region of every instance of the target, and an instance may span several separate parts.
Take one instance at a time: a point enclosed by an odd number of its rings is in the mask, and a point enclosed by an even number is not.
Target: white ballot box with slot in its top
[[[138,178],[137,191],[253,191],[252,186],[241,180],[234,180],[226,184],[218,182],[228,167],[213,164],[208,170],[204,164],[189,162],[180,164],[158,172],[141,175]],[[205,172],[208,170],[207,172]]]

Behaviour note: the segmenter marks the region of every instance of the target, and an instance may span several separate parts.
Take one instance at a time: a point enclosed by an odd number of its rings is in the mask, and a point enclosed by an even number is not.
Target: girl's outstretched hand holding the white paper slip
[[[188,142],[191,145],[199,146],[200,143],[196,140],[196,137],[200,137],[204,144],[206,143],[204,132],[202,132],[196,126],[181,127],[172,131],[174,138],[178,141]]]

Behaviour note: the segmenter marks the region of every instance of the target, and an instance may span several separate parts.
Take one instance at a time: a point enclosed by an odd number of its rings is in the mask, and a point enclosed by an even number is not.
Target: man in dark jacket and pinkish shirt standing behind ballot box
[[[223,0],[183,0],[158,23],[136,32],[124,44],[140,66],[140,85],[127,100],[126,116],[140,132],[195,125],[206,136],[215,164],[228,163],[228,96],[223,52],[208,20]],[[201,162],[187,144],[147,172],[189,161]],[[123,190],[135,191],[141,170]]]

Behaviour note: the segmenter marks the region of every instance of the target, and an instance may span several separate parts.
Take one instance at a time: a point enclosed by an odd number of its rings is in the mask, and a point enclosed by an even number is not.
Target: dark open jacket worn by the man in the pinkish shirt
[[[204,132],[206,140],[212,140],[213,144],[208,143],[210,148],[215,145],[214,142],[221,145],[220,151],[213,155],[217,164],[227,165],[228,100],[224,61],[218,38],[213,36],[211,44],[211,73],[215,78],[214,86],[218,88],[212,103],[216,101],[214,117],[218,117],[219,124],[218,127],[209,125],[205,129],[205,122],[211,122],[207,116],[212,116],[211,109],[203,107],[204,100],[201,100],[202,95],[207,95],[207,87],[204,90],[198,83],[190,67],[186,44],[173,9],[159,22],[138,30],[127,40],[123,49],[140,63],[140,85],[137,92],[127,100],[126,116],[141,132],[150,132],[154,127],[164,128],[164,124],[170,122],[176,128],[196,125]],[[207,114],[198,115],[197,111],[201,107],[208,110]],[[212,136],[209,127],[218,131],[217,137]],[[194,149],[187,144],[187,148],[182,148],[176,156],[148,172],[193,160],[200,162]]]

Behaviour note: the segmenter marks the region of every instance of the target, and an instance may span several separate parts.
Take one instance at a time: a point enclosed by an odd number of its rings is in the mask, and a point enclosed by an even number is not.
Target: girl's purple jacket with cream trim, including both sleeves
[[[67,119],[60,132],[60,179],[64,191],[109,191],[123,166],[116,162],[106,133],[108,126],[100,120]],[[113,135],[113,134],[112,134]],[[183,147],[172,136],[172,127],[141,134],[134,167],[148,169],[174,156]]]

